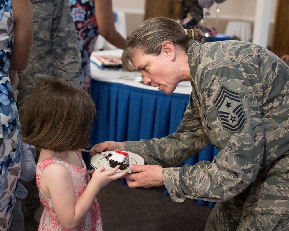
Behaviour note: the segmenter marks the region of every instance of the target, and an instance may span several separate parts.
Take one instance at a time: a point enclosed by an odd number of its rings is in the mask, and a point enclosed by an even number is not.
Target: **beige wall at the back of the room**
[[[144,20],[145,0],[112,0],[112,3],[115,11],[125,13],[127,36],[130,36],[132,31]],[[224,33],[227,22],[230,20],[250,21],[254,23],[256,3],[257,0],[226,0],[223,2],[221,4],[221,11],[218,14],[218,32]],[[268,46],[270,46],[272,42],[276,3],[277,0],[272,0]],[[206,25],[216,25],[216,3],[210,7],[210,16],[208,17]]]

